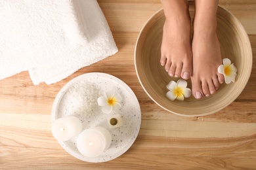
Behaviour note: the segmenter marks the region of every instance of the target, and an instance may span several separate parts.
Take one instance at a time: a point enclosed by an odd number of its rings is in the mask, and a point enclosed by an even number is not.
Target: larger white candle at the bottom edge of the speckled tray
[[[112,141],[110,132],[104,127],[85,129],[77,138],[77,149],[89,158],[100,156]]]

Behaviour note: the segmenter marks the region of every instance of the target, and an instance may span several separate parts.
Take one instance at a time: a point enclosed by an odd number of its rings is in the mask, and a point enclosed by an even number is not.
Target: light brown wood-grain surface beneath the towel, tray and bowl
[[[253,71],[244,92],[231,105],[203,117],[182,117],[161,109],[146,95],[135,73],[135,42],[142,25],[161,9],[160,1],[98,3],[119,48],[116,55],[50,86],[33,86],[28,72],[0,80],[0,169],[256,169],[256,1],[220,2],[249,35]],[[77,160],[51,134],[56,94],[75,76],[95,71],[127,83],[142,110],[133,146],[105,163]]]

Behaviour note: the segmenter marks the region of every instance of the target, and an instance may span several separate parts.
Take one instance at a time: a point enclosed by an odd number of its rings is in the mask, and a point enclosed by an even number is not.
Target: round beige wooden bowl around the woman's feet
[[[194,11],[190,10],[190,14],[193,13]],[[223,58],[229,58],[238,68],[236,82],[222,84],[214,95],[200,100],[189,97],[184,101],[170,101],[165,97],[168,91],[166,85],[171,80],[178,79],[167,75],[160,65],[164,22],[165,16],[161,9],[146,22],[135,46],[135,68],[145,92],[163,109],[182,116],[203,116],[230,105],[244,90],[252,68],[251,44],[242,24],[230,12],[222,7],[218,8],[217,35],[221,43],[221,54]],[[188,80],[188,88],[191,89],[190,80]]]

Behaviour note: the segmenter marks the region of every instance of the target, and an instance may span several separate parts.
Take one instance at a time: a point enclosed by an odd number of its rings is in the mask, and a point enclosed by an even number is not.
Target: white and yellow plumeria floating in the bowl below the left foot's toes
[[[185,97],[190,97],[191,90],[189,88],[186,88],[187,86],[186,80],[178,80],[177,83],[173,80],[167,84],[167,89],[170,91],[166,93],[166,97],[170,99],[171,101],[177,99],[180,101],[184,101]]]

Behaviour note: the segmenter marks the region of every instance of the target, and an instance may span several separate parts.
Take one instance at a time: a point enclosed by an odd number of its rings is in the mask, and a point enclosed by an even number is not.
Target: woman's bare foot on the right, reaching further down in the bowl
[[[224,76],[217,71],[219,65],[222,64],[221,49],[216,33],[217,6],[213,10],[211,8],[214,6],[207,9],[207,7],[203,7],[202,3],[197,4],[197,1],[195,3],[196,14],[192,41],[193,73],[191,81],[192,94],[196,99],[200,99],[203,95],[208,97],[215,93],[224,82]],[[200,7],[202,10],[200,10]]]

